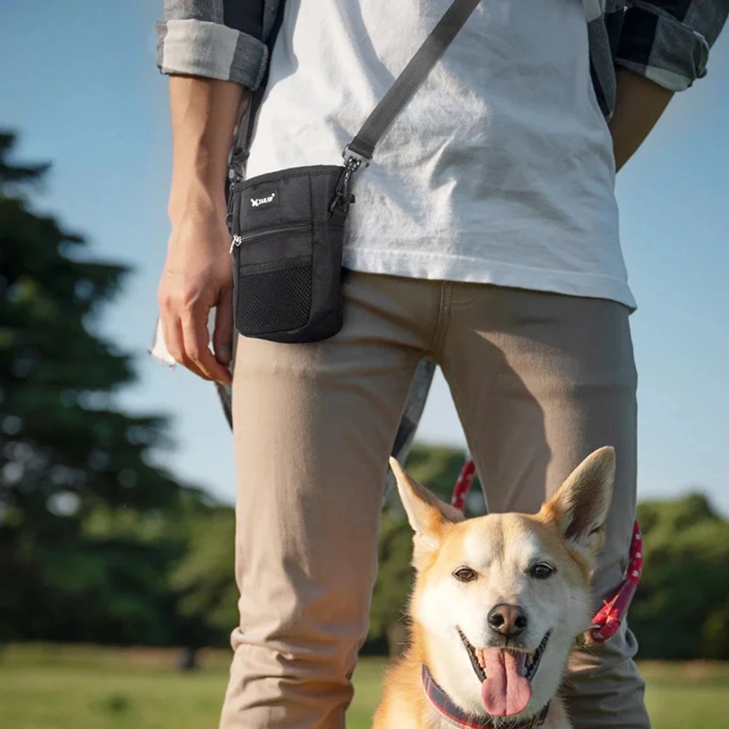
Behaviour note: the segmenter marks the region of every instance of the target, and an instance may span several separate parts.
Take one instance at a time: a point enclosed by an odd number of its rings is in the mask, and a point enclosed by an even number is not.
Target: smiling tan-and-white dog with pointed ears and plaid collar
[[[471,519],[390,465],[416,580],[410,643],[386,672],[373,729],[570,729],[558,688],[590,625],[615,451],[588,456],[538,514]]]

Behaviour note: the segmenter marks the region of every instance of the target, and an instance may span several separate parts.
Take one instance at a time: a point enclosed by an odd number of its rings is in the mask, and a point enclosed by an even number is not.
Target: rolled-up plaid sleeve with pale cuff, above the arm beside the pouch
[[[268,64],[262,0],[165,0],[157,23],[157,66],[163,74],[234,81],[252,90]]]

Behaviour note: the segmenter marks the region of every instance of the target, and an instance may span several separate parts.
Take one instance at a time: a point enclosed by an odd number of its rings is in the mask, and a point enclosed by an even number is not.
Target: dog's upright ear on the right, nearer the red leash
[[[594,555],[604,542],[614,483],[615,449],[599,448],[574,469],[540,514],[565,539]]]

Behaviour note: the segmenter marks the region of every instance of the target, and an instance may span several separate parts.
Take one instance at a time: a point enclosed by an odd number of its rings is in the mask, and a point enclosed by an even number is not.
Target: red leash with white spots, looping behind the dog
[[[451,496],[451,506],[461,511],[466,508],[466,496],[471,488],[473,479],[476,475],[476,467],[471,459],[461,468],[456,486],[453,487],[453,496]],[[633,525],[633,539],[631,539],[631,550],[628,558],[628,570],[625,574],[625,580],[620,585],[615,596],[611,600],[604,601],[602,607],[596,612],[592,623],[588,630],[590,642],[602,643],[611,636],[615,635],[620,623],[623,622],[625,613],[628,612],[631,600],[636,592],[638,583],[640,582],[641,572],[643,570],[643,539],[640,533],[640,527],[636,521]]]

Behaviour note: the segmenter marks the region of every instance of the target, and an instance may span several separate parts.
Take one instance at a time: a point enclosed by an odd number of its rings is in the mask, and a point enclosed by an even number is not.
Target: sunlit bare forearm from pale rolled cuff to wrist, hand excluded
[[[241,98],[243,87],[230,81],[170,78],[174,151],[168,212],[173,221],[184,213],[225,210],[227,159]]]

